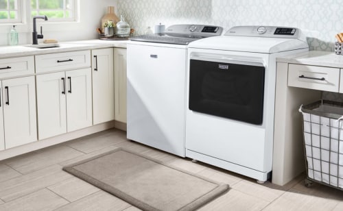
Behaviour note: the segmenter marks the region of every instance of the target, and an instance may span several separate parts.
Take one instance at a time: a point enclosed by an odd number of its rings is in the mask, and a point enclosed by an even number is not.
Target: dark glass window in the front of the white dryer
[[[262,64],[191,59],[189,109],[261,125],[264,79]]]

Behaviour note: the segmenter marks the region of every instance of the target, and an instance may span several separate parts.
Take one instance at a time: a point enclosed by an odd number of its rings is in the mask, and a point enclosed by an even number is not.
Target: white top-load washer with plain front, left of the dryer
[[[171,25],[165,33],[128,42],[127,138],[185,157],[189,42],[222,34],[222,27]]]

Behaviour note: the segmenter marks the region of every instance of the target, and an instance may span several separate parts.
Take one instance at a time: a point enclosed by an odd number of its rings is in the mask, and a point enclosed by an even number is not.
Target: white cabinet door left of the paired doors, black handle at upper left
[[[5,149],[37,140],[34,76],[2,82]]]

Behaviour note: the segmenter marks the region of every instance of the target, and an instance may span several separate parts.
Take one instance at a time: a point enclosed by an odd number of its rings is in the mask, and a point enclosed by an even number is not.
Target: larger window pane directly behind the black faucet
[[[75,21],[75,4],[76,0],[31,0],[31,16],[46,15],[49,21]]]

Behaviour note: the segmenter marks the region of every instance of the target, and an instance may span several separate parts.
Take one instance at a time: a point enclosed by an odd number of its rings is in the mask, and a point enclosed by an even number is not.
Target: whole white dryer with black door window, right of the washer
[[[191,42],[186,156],[265,182],[272,171],[276,57],[308,51],[300,29],[240,26]]]

